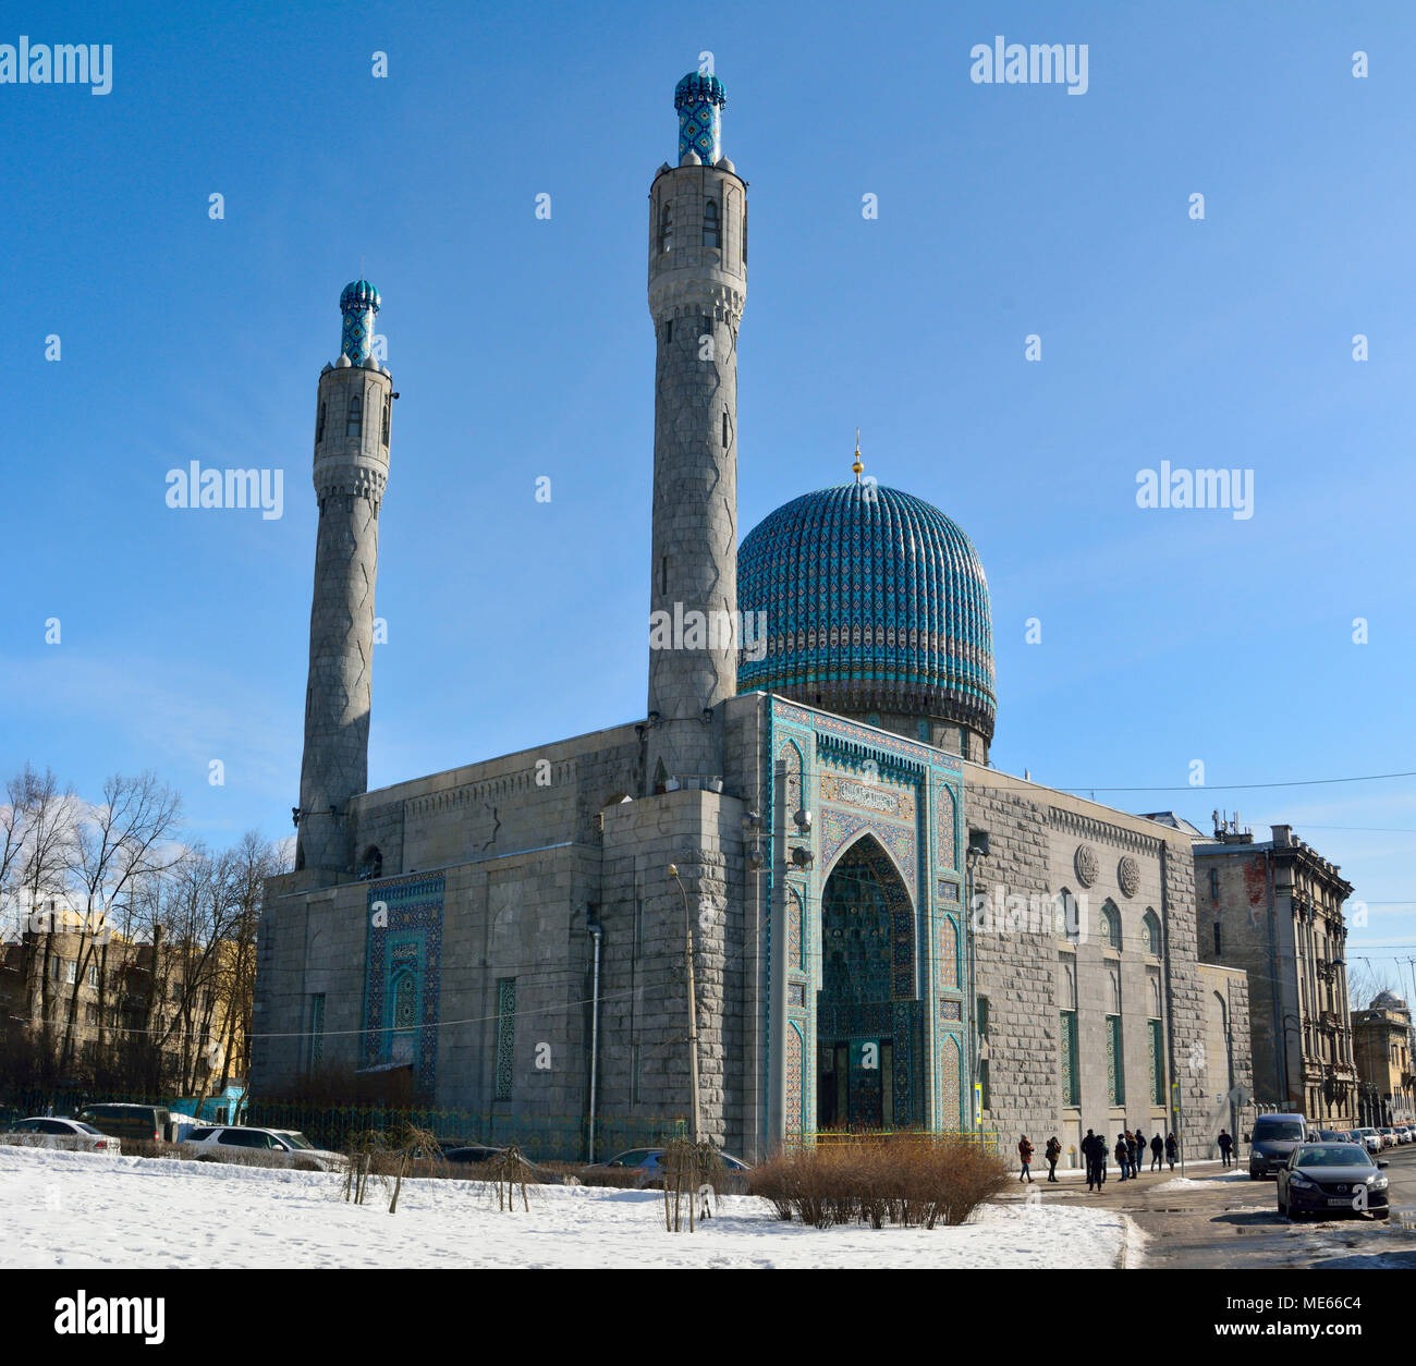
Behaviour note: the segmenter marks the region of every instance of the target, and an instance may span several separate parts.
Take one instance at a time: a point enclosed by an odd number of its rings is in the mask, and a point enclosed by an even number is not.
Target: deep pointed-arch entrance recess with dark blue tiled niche
[[[821,895],[818,1130],[920,1123],[922,1022],[915,909],[895,865],[867,835],[835,865]]]

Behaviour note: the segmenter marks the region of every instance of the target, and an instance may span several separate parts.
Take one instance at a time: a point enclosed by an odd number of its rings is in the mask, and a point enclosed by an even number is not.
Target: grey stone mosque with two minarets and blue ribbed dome
[[[396,1074],[484,1142],[571,1117],[564,1156],[666,1117],[749,1159],[835,1128],[1075,1154],[1087,1128],[1184,1125],[1208,1149],[1252,1084],[1246,975],[1201,961],[1178,825],[990,767],[964,531],[857,450],[851,481],[738,544],[748,185],[725,102],[712,75],[678,82],[649,195],[649,689],[622,726],[365,790],[392,378],[377,290],[344,290],[252,1091]]]

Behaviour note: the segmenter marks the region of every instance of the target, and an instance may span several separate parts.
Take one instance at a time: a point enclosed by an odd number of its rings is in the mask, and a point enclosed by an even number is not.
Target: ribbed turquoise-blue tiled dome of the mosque
[[[767,614],[741,692],[993,737],[988,582],[969,536],[923,500],[872,483],[794,498],[738,549],[738,606]]]

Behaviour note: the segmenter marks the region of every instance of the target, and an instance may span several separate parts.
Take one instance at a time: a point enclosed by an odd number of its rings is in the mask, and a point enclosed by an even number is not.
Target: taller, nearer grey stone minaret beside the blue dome
[[[722,774],[738,691],[738,324],[748,297],[746,183],[722,156],[716,76],[674,91],[678,166],[649,191],[654,511],[647,786]]]

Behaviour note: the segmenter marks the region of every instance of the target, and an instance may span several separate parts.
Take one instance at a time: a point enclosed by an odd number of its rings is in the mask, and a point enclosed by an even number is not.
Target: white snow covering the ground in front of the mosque
[[[0,1148],[0,1267],[1112,1267],[1141,1240],[1114,1210],[986,1206],[957,1229],[809,1229],[725,1196],[695,1233],[664,1232],[650,1190],[405,1181],[398,1213],[371,1185],[207,1162]]]

